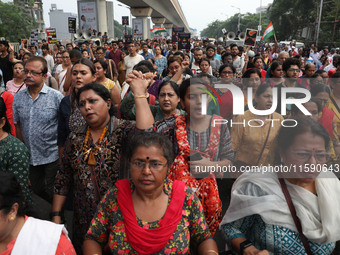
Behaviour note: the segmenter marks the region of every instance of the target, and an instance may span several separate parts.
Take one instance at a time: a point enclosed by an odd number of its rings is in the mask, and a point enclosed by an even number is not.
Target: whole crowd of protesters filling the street
[[[0,255],[336,254],[339,48],[190,46],[0,41]]]

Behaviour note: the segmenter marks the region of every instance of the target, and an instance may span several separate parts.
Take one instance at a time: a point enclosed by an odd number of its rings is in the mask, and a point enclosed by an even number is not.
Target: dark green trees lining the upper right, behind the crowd
[[[316,22],[319,15],[320,0],[274,0],[272,6],[262,13],[262,33],[269,24],[273,22],[275,34],[278,41],[301,40],[313,42],[316,38]],[[325,0],[323,4],[319,45],[335,46],[340,43],[340,23],[339,20],[340,0]],[[216,20],[201,31],[203,37],[221,37],[222,29],[227,31],[237,31],[238,13],[227,20]],[[257,29],[259,24],[259,14],[241,15],[241,32],[246,28]],[[309,28],[310,37],[302,38],[301,33],[304,28]],[[269,40],[274,41],[274,38]]]

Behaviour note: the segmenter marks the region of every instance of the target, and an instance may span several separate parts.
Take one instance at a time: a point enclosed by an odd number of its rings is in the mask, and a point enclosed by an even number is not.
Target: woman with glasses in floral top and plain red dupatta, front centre
[[[117,181],[97,207],[84,242],[85,255],[218,254],[202,205],[184,182],[169,181],[170,140],[139,133],[128,150],[128,179]]]

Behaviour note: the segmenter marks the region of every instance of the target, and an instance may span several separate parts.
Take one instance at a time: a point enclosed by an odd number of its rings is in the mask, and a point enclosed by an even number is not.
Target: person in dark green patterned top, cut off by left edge
[[[11,135],[11,125],[6,116],[6,105],[0,97],[0,171],[15,175],[28,203],[32,202],[28,188],[30,156],[28,149]]]

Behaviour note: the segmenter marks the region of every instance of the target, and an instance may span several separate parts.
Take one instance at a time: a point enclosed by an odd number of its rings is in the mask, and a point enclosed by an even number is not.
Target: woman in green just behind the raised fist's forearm
[[[181,114],[179,108],[179,87],[173,81],[163,81],[158,88],[158,105],[151,105],[150,110],[155,121],[163,120],[173,114]],[[122,115],[130,120],[136,119],[136,108],[133,96],[130,94],[124,98],[120,107]]]

